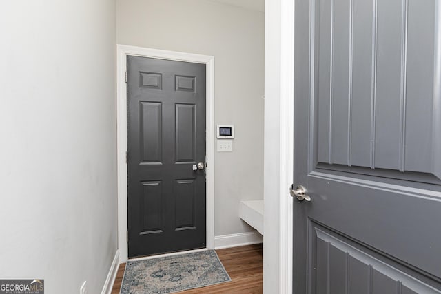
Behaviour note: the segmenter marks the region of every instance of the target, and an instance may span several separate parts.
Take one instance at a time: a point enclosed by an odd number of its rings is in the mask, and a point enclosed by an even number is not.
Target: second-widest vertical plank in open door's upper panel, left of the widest
[[[402,0],[378,1],[373,167],[400,170],[402,158]],[[392,13],[393,12],[393,13]]]

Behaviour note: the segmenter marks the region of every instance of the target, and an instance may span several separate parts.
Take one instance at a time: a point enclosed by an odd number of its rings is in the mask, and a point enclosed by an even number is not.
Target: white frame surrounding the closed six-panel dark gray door
[[[118,249],[119,262],[126,262],[127,247],[127,91],[125,72],[127,55],[203,63],[206,65],[206,154],[207,154],[207,249],[214,249],[214,56],[190,54],[141,48],[129,45],[116,45],[116,134],[117,134],[117,176],[118,176]]]

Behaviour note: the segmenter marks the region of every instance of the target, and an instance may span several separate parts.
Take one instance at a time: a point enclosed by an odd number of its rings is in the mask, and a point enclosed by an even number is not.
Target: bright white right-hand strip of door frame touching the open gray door
[[[280,293],[292,293],[294,169],[294,1],[281,1],[280,52]]]

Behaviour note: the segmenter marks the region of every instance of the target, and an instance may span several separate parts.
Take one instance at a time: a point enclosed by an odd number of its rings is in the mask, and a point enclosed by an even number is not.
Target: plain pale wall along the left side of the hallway
[[[0,278],[101,293],[116,253],[115,3],[3,1]]]

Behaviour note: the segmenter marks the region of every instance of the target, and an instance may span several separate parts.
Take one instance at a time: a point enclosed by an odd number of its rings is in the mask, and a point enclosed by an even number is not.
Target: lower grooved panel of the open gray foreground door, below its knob
[[[409,275],[400,266],[370,249],[345,240],[311,222],[311,244],[315,244],[316,293],[420,293],[440,290]],[[312,285],[311,285],[312,286]]]

